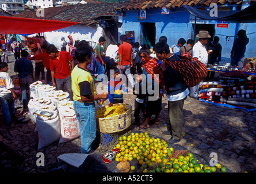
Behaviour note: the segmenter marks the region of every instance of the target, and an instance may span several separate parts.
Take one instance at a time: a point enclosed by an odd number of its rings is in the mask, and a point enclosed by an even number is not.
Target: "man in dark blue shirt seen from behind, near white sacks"
[[[28,52],[21,51],[21,59],[17,60],[14,64],[14,72],[18,72],[18,80],[20,82],[20,89],[22,93],[23,109],[28,108],[28,101],[30,99],[29,86],[33,83],[33,64],[27,59]],[[27,92],[28,91],[28,92]]]

